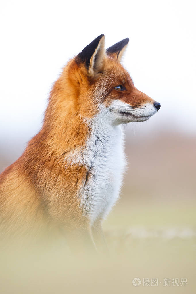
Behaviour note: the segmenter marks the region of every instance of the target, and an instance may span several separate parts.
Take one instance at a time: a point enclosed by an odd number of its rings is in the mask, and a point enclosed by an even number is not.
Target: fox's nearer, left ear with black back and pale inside
[[[76,57],[77,62],[83,62],[88,75],[96,78],[103,71],[105,63],[105,36],[102,34],[88,44]]]

